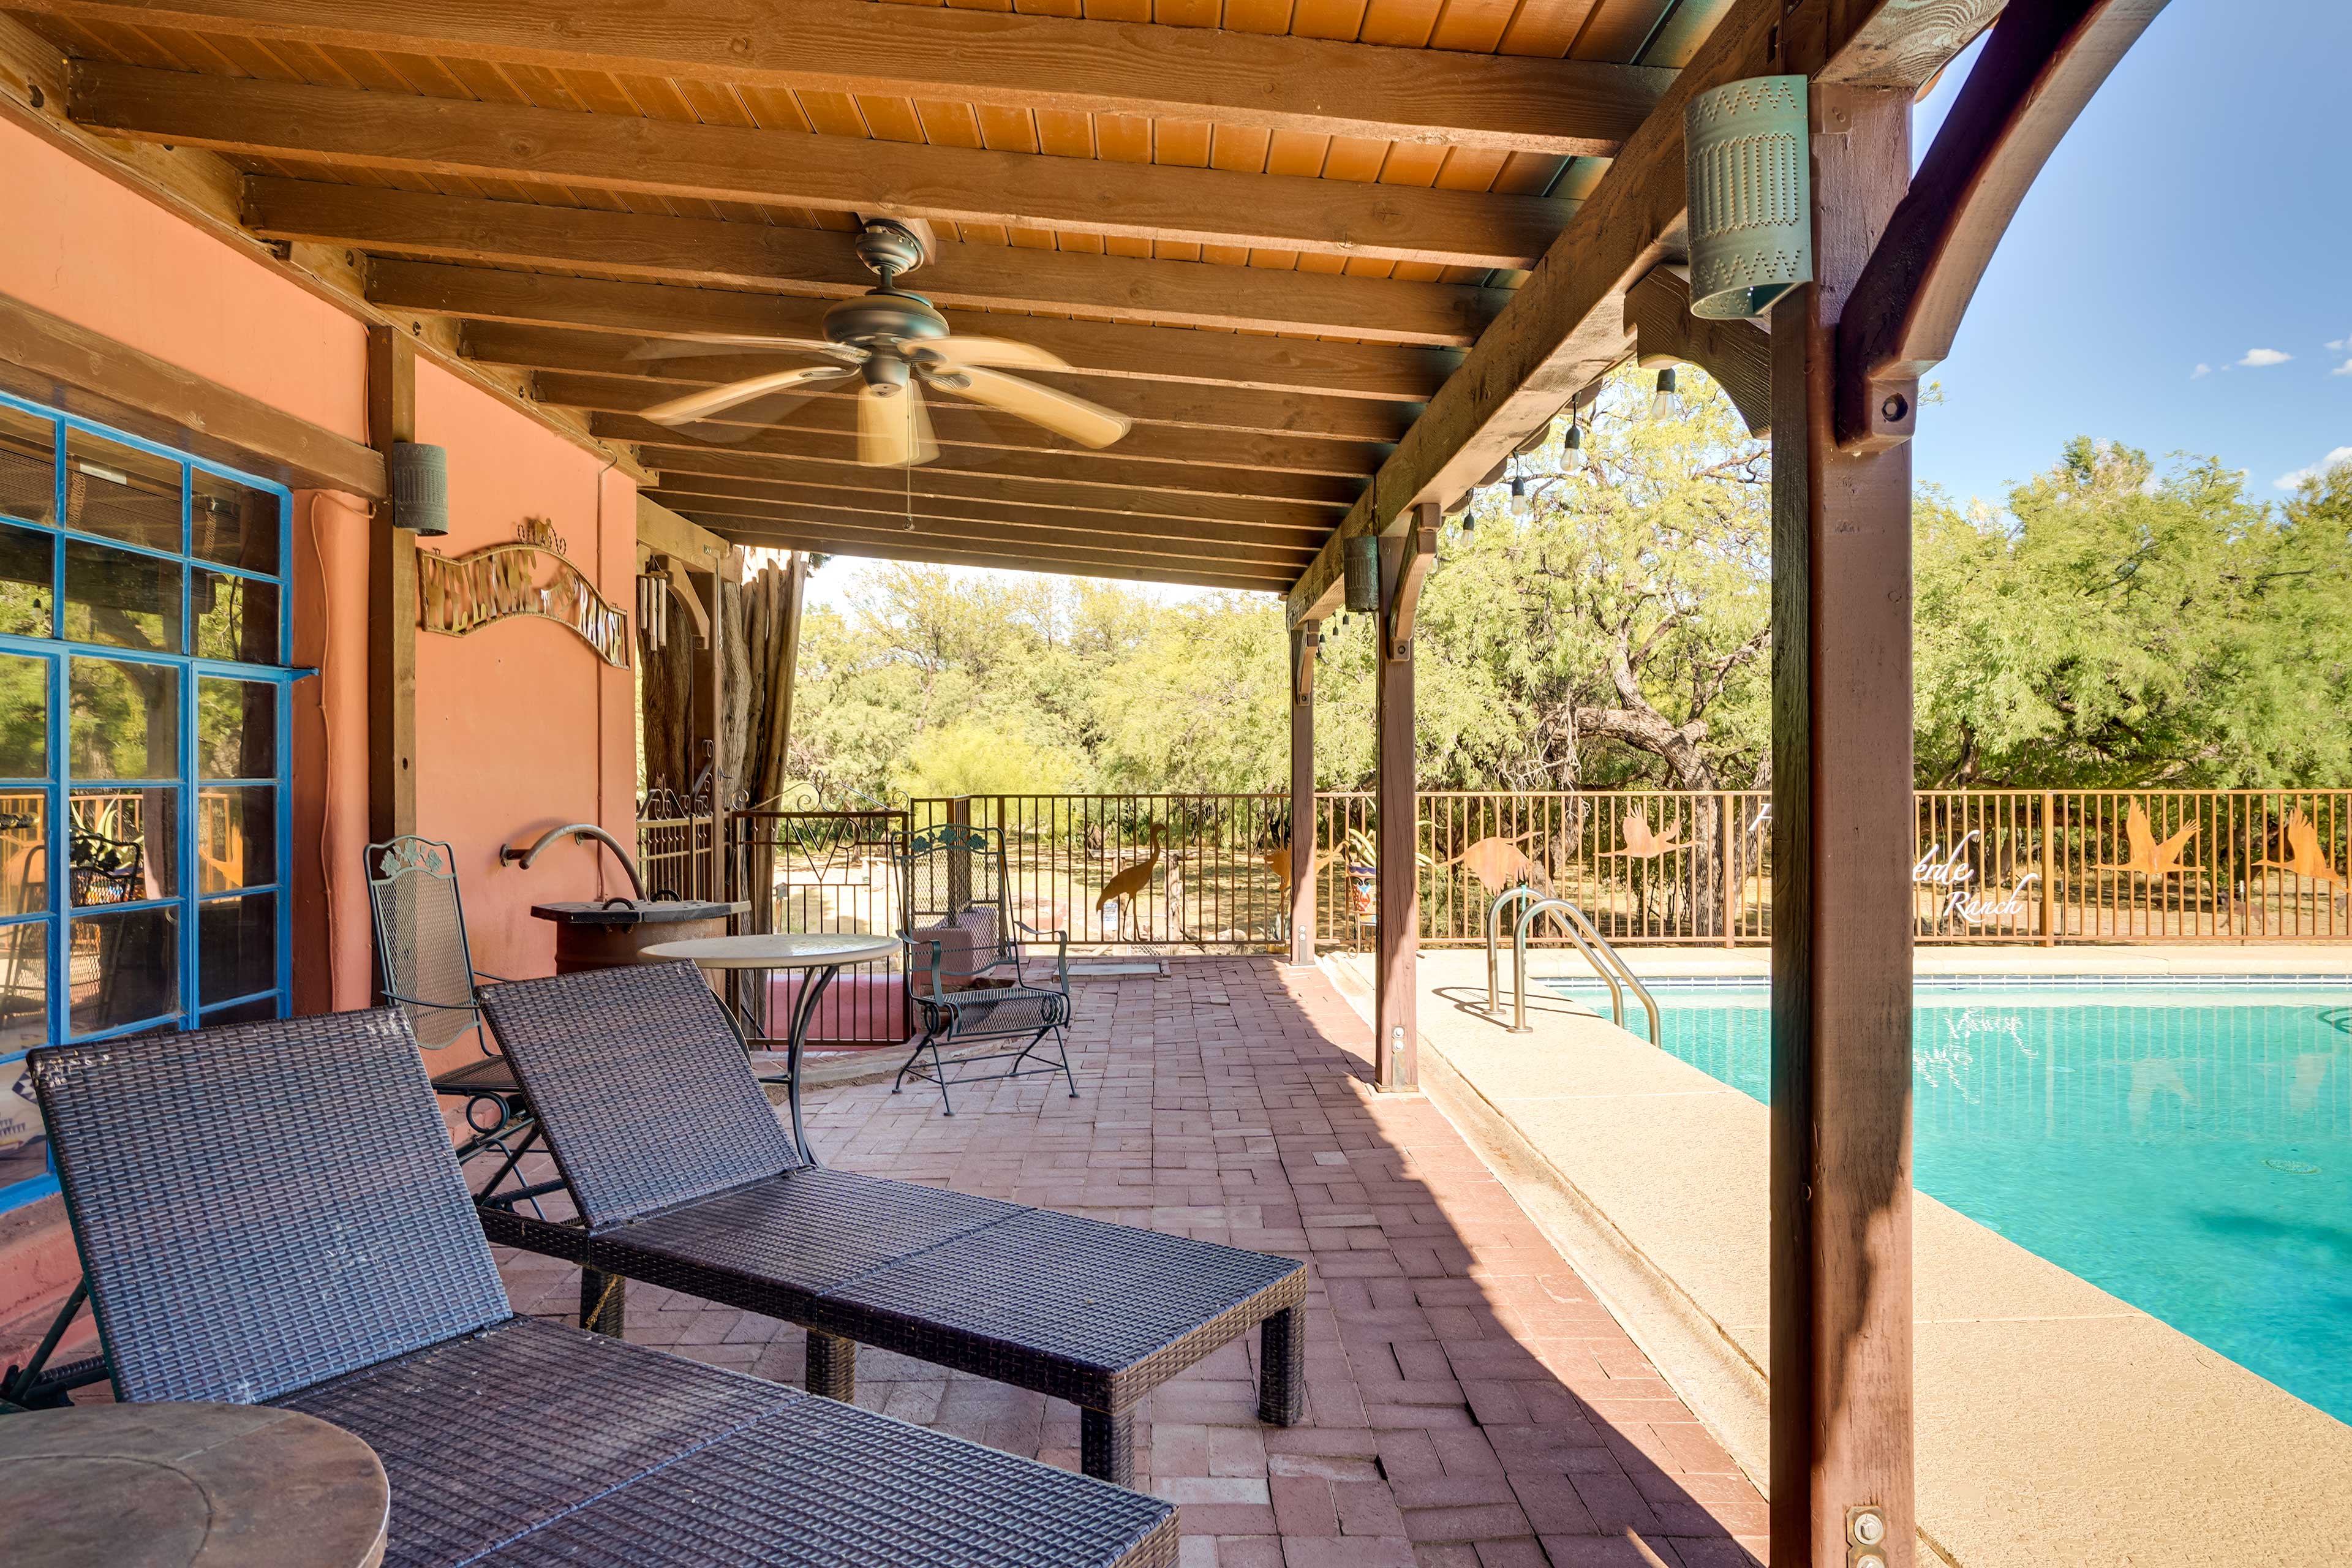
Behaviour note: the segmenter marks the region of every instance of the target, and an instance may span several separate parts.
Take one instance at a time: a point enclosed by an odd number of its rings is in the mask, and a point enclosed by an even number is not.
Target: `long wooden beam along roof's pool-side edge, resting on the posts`
[[[1454,503],[1632,350],[1628,289],[1679,261],[1689,216],[1682,110],[1693,96],[1778,71],[1783,38],[1797,35],[1828,40],[1818,59],[1830,66],[1816,80],[1915,89],[1999,9],[2002,0],[1738,0],[1291,588],[1291,625],[1338,604],[1350,536],[1395,534],[1423,501]]]

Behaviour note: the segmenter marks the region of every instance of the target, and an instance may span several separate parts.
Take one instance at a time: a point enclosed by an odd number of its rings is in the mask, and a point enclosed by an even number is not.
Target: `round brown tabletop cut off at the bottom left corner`
[[[390,1488],[315,1415],[228,1403],[0,1415],[12,1568],[376,1568]]]

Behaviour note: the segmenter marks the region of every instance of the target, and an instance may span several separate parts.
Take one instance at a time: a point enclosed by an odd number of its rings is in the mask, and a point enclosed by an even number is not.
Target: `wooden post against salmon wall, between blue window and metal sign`
[[[416,348],[367,329],[367,442],[416,440]],[[367,529],[367,837],[416,832],[416,536],[386,498]]]

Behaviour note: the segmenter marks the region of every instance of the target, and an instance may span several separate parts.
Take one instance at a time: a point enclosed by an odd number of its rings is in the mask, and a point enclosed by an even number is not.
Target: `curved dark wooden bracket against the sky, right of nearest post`
[[[1837,322],[1837,444],[1912,437],[2025,190],[2164,0],[2011,0]]]

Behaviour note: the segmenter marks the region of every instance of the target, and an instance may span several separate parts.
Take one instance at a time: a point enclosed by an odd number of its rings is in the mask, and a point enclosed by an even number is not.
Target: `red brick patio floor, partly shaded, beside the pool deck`
[[[1733,1568],[1764,1502],[1435,1105],[1369,1088],[1371,1030],[1315,971],[1171,959],[1077,992],[1080,1098],[1047,1079],[818,1091],[851,1171],[1312,1265],[1308,1422],[1256,1422],[1256,1335],[1160,1387],[1138,1486],[1183,1509],[1181,1568]],[[517,1309],[579,1274],[501,1253]],[[800,1382],[797,1328],[630,1286],[628,1338]],[[1054,1465],[1077,1410],[903,1356],[858,1403]]]

